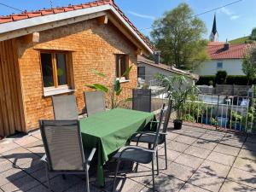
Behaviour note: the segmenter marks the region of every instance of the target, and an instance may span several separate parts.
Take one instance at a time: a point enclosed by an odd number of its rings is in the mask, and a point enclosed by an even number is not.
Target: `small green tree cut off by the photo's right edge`
[[[247,84],[256,77],[256,49],[252,49],[242,60],[242,72],[247,76]]]

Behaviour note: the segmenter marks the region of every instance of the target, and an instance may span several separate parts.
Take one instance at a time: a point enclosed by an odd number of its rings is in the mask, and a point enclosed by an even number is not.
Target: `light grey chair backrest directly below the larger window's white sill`
[[[55,120],[79,119],[76,96],[52,96]]]

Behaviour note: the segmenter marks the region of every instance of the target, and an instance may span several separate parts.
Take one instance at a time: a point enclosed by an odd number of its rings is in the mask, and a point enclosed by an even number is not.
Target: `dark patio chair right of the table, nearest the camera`
[[[151,162],[152,164],[152,177],[153,177],[153,188],[154,188],[154,157],[157,153],[157,145],[160,133],[160,126],[162,124],[164,110],[160,111],[160,120],[158,121],[157,129],[154,134],[154,143],[151,148],[143,148],[138,146],[127,146],[124,148],[120,148],[119,152],[113,155],[114,159],[118,160],[114,179],[113,179],[113,191],[115,191],[115,183],[116,177],[119,172],[119,165],[122,160],[130,160],[131,162],[148,164]],[[157,160],[157,159],[156,159]],[[154,188],[155,191],[155,188]]]

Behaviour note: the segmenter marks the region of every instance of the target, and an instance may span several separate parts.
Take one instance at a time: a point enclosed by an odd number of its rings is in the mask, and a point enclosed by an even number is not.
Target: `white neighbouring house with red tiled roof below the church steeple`
[[[218,71],[226,71],[228,75],[245,75],[242,72],[242,58],[247,54],[252,44],[228,44],[210,42],[207,45],[209,60],[204,61],[195,73],[215,75]]]

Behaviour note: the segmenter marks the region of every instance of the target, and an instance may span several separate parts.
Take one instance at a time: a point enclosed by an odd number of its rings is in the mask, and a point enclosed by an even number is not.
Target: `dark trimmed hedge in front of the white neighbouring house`
[[[200,79],[196,82],[197,85],[207,84],[212,81],[215,84],[215,75],[206,75],[201,76]],[[226,84],[238,84],[238,85],[247,85],[247,76],[244,75],[228,75],[226,79]],[[249,84],[256,84],[256,79],[250,81]]]

